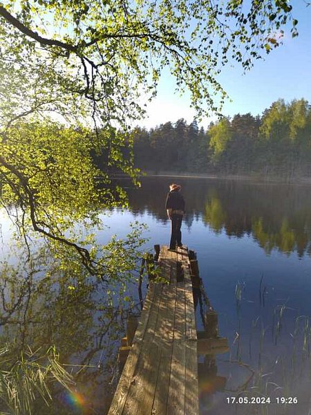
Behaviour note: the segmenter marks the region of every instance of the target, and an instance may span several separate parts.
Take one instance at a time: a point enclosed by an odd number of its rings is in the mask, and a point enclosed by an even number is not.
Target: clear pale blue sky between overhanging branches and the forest
[[[299,36],[292,39],[290,29],[285,29],[283,45],[279,46],[265,60],[258,60],[250,71],[243,74],[238,64],[223,69],[220,83],[229,94],[232,102],[225,102],[223,115],[236,113],[261,114],[272,102],[279,98],[291,101],[305,98],[311,102],[311,6],[306,7],[304,0],[294,0],[292,15],[298,23]],[[174,94],[175,84],[168,71],[164,71],[158,89],[158,97],[147,105],[149,118],[142,120],[141,126],[151,128],[161,123],[176,122],[185,118],[194,119],[190,108],[189,94]],[[207,128],[215,116],[205,118],[200,125]]]

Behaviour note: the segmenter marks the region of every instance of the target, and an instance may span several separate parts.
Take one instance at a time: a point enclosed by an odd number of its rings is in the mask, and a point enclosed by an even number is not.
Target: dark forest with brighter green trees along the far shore
[[[311,105],[273,102],[262,116],[222,118],[207,130],[184,119],[132,131],[135,167],[147,172],[311,176]]]

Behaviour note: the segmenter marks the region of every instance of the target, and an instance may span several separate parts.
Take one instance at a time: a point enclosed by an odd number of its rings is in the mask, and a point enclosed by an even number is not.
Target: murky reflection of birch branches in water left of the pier
[[[19,250],[19,261],[0,265],[0,345],[8,353],[6,362],[17,360],[31,347],[44,356],[51,345],[61,363],[74,374],[72,391],[53,385],[53,402],[45,405],[38,396],[34,414],[70,415],[105,413],[111,400],[113,379],[117,381],[115,354],[124,331],[124,304],[114,304],[106,285],[83,273],[68,275],[55,268],[45,247],[27,260]],[[0,404],[0,412],[7,407]]]

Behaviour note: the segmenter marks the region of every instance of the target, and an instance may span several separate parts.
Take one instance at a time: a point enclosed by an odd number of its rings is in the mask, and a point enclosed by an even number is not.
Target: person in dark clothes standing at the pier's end
[[[169,193],[167,194],[167,201],[165,208],[169,219],[171,219],[171,241],[169,243],[169,249],[175,250],[176,245],[182,246],[181,241],[181,224],[182,216],[185,213],[185,200],[180,194],[180,185],[172,183],[169,185]]]

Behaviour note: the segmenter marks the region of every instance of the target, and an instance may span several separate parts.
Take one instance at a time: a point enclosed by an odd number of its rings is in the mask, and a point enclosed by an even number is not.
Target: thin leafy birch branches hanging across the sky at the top
[[[18,10],[9,4],[6,6],[14,15]],[[291,15],[292,6],[281,0],[252,0],[247,6],[240,0],[39,0],[23,2],[21,8],[23,23],[30,30],[41,20],[40,26],[48,28],[46,39],[63,42],[63,46],[41,44],[46,59],[53,58],[56,64],[57,84],[70,95],[71,82],[71,93],[75,90],[93,102],[97,121],[113,118],[118,123],[124,122],[124,116],[142,113],[141,106],[132,111],[128,103],[137,102],[142,89],[153,89],[151,74],[161,72],[164,66],[171,68],[180,91],[185,87],[191,91],[192,105],[198,113],[215,111],[216,96],[220,102],[225,98],[217,74],[228,57],[249,68],[252,59],[260,56],[261,48],[270,50],[271,44],[265,39],[273,39],[271,33],[292,20],[294,36],[297,25]],[[7,19],[5,26],[12,30],[10,23]],[[21,34],[13,29],[12,37],[21,39]],[[34,44],[31,36],[23,39],[25,48]],[[277,46],[276,42],[272,44]],[[33,52],[38,57],[42,54],[40,48]]]

